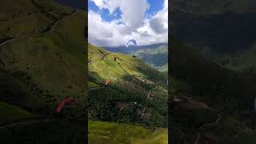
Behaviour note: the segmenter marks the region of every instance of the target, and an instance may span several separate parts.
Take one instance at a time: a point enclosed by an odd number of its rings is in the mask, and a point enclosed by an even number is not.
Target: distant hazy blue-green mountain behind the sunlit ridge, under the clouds
[[[142,59],[150,66],[160,71],[167,71],[168,62],[168,44],[158,43],[148,46],[118,46],[118,47],[104,47],[115,53],[130,54],[134,57]]]

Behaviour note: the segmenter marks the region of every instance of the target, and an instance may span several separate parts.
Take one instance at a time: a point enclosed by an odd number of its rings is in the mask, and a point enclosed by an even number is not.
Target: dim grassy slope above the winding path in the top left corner
[[[62,14],[71,12],[71,9],[50,0],[34,0],[34,2],[52,14],[55,19],[61,18]],[[0,4],[2,6],[0,38],[30,37],[30,35],[41,33],[54,21],[38,10],[31,0],[2,1]]]

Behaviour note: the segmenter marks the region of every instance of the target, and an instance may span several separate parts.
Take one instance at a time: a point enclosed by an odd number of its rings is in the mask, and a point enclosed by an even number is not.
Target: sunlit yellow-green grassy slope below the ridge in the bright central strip
[[[104,55],[106,57],[102,59]],[[114,62],[114,58],[117,58],[116,62]],[[102,79],[122,80],[126,75],[133,75],[151,79],[155,83],[163,85],[166,83],[165,73],[158,72],[142,60],[126,54],[110,53],[102,48],[89,45],[88,61],[92,61],[89,63],[90,72],[96,72]]]

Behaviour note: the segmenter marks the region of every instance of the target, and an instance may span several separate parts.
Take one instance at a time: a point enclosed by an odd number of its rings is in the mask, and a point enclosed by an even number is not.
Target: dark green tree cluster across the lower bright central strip
[[[121,86],[90,90],[89,118],[107,122],[140,123],[149,128],[166,127],[167,102],[163,97],[166,96],[150,100],[142,91],[129,91]],[[118,102],[126,103],[128,106],[121,109],[117,106]]]

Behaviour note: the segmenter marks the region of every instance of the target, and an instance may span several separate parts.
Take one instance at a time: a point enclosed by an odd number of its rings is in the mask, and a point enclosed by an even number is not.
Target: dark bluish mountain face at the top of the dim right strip
[[[172,14],[172,34],[205,53],[229,54],[256,41],[256,17],[248,14]]]

